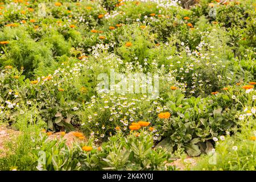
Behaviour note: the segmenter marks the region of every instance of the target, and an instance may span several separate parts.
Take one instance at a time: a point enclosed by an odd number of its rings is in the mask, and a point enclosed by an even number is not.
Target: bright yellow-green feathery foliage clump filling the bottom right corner
[[[192,170],[254,171],[256,166],[255,119],[246,119],[241,125],[241,133],[236,133],[232,137],[222,136],[216,142],[216,148],[212,154],[202,156]]]

